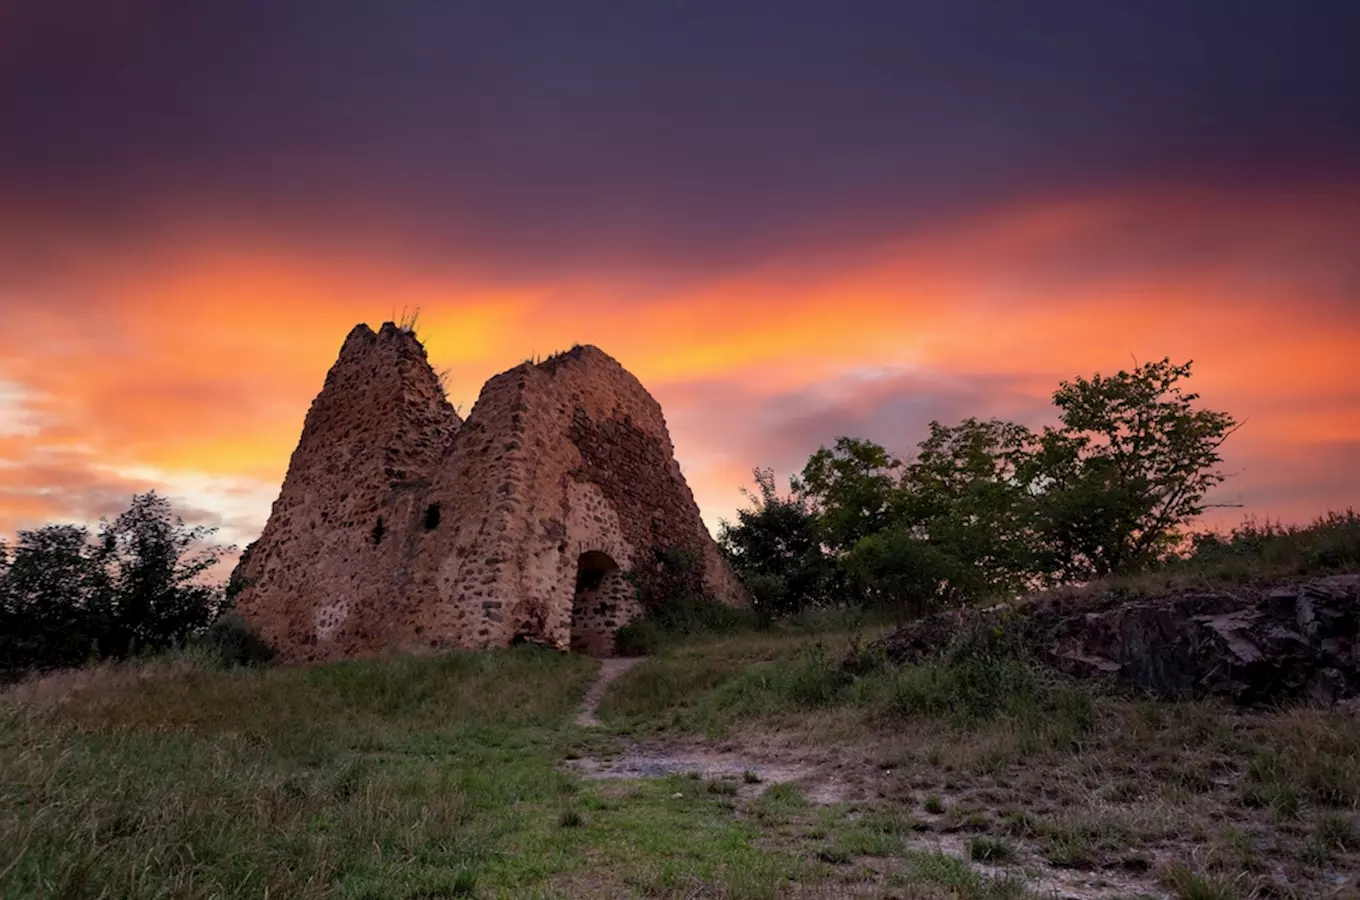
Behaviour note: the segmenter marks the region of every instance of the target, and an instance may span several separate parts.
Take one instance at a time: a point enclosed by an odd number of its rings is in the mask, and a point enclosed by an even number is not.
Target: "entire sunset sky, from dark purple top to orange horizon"
[[[1227,504],[1360,507],[1349,0],[0,0],[0,536],[243,545],[344,336],[577,343],[753,466],[1193,359]]]

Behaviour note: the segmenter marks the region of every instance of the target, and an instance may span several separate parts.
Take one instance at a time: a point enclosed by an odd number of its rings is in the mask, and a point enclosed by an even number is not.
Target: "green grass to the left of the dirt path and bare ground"
[[[0,700],[0,896],[778,896],[801,863],[725,794],[560,769],[594,668],[524,648]]]

